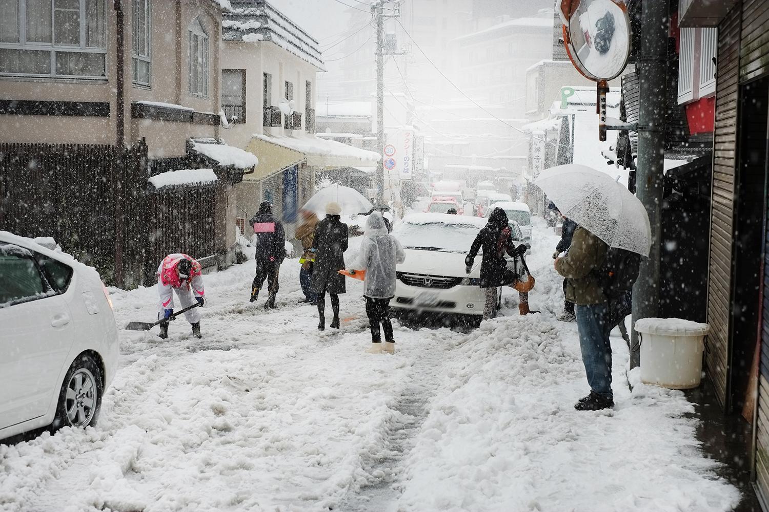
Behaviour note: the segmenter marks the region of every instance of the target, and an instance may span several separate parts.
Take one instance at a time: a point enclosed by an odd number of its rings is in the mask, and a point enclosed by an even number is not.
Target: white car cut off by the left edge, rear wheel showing
[[[0,231],[0,439],[94,424],[118,368],[112,302],[95,269]]]

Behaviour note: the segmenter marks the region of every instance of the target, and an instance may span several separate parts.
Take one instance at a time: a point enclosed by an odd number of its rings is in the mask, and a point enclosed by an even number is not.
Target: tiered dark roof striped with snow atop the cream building
[[[326,71],[320,45],[306,31],[265,0],[230,0],[229,12],[222,15],[224,41],[275,43],[303,61]]]

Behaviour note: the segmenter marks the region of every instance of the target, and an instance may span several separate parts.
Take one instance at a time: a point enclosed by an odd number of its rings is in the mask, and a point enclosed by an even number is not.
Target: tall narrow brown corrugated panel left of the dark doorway
[[[716,79],[710,268],[707,279],[707,323],[711,325],[707,373],[721,405],[726,403],[727,357],[731,329],[731,259],[734,222],[734,164],[737,133],[737,68],[739,67],[740,5],[718,27],[719,63]]]

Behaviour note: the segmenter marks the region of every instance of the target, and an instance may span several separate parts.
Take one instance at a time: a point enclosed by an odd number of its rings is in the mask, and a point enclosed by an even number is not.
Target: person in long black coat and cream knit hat
[[[326,292],[331,296],[331,309],[334,312],[331,329],[339,329],[339,294],[347,290],[345,276],[338,271],[345,269],[347,243],[348,230],[347,224],[341,222],[341,206],[338,203],[328,203],[326,218],[315,226],[315,236],[312,239],[315,266],[312,270],[311,287],[318,300],[319,331],[326,328]]]

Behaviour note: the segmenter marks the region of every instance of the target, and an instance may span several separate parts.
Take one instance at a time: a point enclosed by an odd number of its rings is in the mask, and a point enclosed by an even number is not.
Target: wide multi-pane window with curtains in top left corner
[[[0,74],[106,78],[106,0],[0,0]]]

